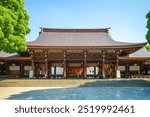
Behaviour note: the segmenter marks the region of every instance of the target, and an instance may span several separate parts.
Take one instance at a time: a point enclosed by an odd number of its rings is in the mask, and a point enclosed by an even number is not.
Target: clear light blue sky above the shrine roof
[[[117,41],[145,42],[150,0],[25,0],[25,9],[31,28],[27,41],[38,37],[40,27],[111,27]]]

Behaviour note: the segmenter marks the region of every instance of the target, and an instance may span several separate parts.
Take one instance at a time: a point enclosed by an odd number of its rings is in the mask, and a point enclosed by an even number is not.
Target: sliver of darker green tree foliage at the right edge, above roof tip
[[[148,29],[147,34],[146,34],[146,39],[147,39],[147,42],[150,44],[150,11],[147,13],[146,18],[147,18],[146,28]]]

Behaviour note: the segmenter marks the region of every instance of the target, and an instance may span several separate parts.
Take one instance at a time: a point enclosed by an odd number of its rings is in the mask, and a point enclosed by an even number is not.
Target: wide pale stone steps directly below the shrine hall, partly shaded
[[[0,87],[112,87],[150,86],[150,79],[7,79]]]

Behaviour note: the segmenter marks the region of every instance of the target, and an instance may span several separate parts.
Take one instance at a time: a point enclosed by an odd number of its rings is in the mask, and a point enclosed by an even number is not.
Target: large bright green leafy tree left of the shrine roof
[[[29,19],[24,0],[0,0],[0,50],[8,53],[27,50]]]

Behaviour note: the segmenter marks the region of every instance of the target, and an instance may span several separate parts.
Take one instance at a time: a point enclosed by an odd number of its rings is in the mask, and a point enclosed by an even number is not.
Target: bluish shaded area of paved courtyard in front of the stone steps
[[[43,89],[11,95],[9,100],[150,100],[150,87]]]

